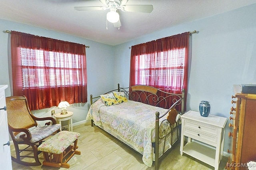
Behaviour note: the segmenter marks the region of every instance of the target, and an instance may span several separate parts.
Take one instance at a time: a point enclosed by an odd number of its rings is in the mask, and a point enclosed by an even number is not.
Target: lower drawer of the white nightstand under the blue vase
[[[199,140],[201,142],[210,144],[212,146],[216,146],[217,143],[217,136],[211,136],[204,133],[200,133],[196,130],[192,130],[186,127],[184,127],[184,135]]]

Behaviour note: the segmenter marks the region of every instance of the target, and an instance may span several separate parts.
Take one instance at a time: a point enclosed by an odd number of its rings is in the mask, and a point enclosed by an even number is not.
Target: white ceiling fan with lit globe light
[[[114,24],[114,27],[120,28],[120,16],[118,10],[122,12],[144,12],[150,13],[153,11],[152,5],[126,5],[128,0],[100,0],[104,6],[76,6],[78,11],[92,11],[92,10],[109,10],[107,13],[107,20]],[[108,29],[108,27],[106,27]]]

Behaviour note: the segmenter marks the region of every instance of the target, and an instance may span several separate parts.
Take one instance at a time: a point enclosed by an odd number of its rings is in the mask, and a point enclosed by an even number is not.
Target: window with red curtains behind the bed
[[[176,94],[186,90],[189,36],[185,32],[132,46],[130,86],[150,85]]]

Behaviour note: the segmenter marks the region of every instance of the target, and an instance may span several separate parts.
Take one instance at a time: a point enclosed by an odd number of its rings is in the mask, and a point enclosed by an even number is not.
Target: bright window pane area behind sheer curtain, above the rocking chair
[[[45,62],[44,54],[49,56],[49,62]],[[84,71],[78,61],[80,55],[59,53],[44,50],[20,48],[22,63],[22,88],[65,87],[70,85],[84,85]],[[32,54],[32,55],[31,55]],[[32,77],[30,75],[38,75]],[[48,75],[47,75],[48,73]],[[73,76],[75,75],[75,77]],[[45,77],[49,76],[49,79]],[[49,80],[49,82],[47,81]]]

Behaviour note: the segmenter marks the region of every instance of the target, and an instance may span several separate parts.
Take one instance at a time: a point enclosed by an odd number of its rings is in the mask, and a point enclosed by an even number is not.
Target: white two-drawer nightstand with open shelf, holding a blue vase
[[[218,170],[223,155],[224,134],[227,118],[215,115],[200,116],[199,112],[188,111],[181,116],[180,154],[186,153]],[[184,136],[188,142],[184,146]],[[191,138],[215,148],[191,141]]]

